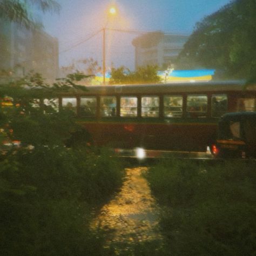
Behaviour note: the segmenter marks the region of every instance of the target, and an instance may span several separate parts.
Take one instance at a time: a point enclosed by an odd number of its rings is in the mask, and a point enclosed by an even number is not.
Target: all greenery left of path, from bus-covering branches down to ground
[[[80,131],[72,111],[42,111],[29,97],[75,90],[80,76],[51,87],[39,75],[1,86],[1,97],[12,97],[0,109],[1,143],[21,142],[0,156],[1,255],[108,253],[90,221],[122,185],[123,166],[107,150],[99,157],[86,143],[66,147],[71,131]]]

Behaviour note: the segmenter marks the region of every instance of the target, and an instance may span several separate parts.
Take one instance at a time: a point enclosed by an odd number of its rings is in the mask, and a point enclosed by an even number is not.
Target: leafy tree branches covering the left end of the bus
[[[75,123],[74,114],[68,110],[56,112],[54,105],[44,105],[39,99],[54,99],[59,93],[85,91],[86,87],[77,83],[87,77],[80,72],[72,73],[50,85],[40,74],[30,73],[2,84],[0,98],[8,96],[10,104],[0,109],[0,146],[3,140],[19,140],[24,145],[33,146],[64,145],[71,132],[81,129]]]

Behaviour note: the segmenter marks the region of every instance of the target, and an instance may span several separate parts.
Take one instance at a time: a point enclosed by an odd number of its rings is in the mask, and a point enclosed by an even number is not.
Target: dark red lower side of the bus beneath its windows
[[[83,122],[98,146],[124,149],[206,151],[217,125],[213,123]]]

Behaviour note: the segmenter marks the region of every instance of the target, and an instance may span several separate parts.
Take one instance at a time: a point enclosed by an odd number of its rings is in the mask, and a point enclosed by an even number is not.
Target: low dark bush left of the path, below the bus
[[[92,210],[122,185],[122,166],[80,149],[36,147],[0,166],[1,255],[104,255]]]

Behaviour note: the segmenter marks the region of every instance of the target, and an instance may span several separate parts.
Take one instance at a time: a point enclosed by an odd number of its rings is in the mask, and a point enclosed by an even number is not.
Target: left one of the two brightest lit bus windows
[[[137,116],[137,98],[136,97],[121,97],[120,100],[120,116],[121,117],[136,117]]]

